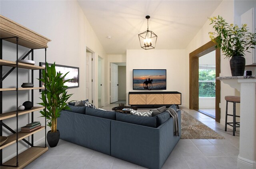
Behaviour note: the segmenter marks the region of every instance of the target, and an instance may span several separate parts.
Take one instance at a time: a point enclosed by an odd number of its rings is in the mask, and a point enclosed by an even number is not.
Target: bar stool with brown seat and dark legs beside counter
[[[236,103],[240,103],[240,96],[225,96],[226,100],[226,120],[225,120],[225,132],[227,131],[227,124],[233,127],[233,136],[235,136],[235,131],[237,127],[240,127],[240,122],[236,122]],[[233,114],[228,114],[228,102],[233,103]],[[227,122],[228,116],[233,116],[233,122]]]

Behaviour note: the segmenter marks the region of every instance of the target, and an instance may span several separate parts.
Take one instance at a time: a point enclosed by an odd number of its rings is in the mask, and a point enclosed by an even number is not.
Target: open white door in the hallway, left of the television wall
[[[118,101],[118,65],[110,63],[110,103]]]

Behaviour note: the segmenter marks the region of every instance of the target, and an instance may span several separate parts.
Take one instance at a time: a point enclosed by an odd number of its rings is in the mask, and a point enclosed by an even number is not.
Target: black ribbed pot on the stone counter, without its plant
[[[243,76],[245,68],[245,58],[234,56],[230,59],[230,69],[232,76]]]

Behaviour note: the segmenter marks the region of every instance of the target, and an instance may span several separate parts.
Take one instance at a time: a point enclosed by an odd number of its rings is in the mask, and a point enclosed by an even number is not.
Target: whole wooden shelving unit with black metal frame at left
[[[31,90],[31,101],[34,104],[34,90],[35,89],[45,89],[44,87],[29,87],[29,88],[21,88],[18,86],[18,70],[19,69],[29,69],[31,70],[31,81],[32,83],[34,83],[34,70],[40,70],[40,69],[45,69],[44,67],[40,67],[37,65],[29,65],[29,64],[25,64],[25,63],[18,63],[18,46],[24,46],[27,48],[30,48],[31,50],[26,53],[26,55],[24,55],[24,57],[22,57],[22,59],[25,59],[28,55],[31,55],[32,60],[34,59],[34,49],[44,49],[45,50],[45,59],[44,62],[46,63],[46,48],[47,43],[49,41],[51,41],[50,39],[0,15],[0,40],[1,40],[1,52],[0,52],[0,125],[1,125],[1,130],[0,130],[0,136],[2,136],[3,133],[3,128],[5,127],[7,130],[9,130],[10,132],[14,133],[8,137],[8,140],[6,140],[5,143],[3,143],[0,146],[0,168],[1,169],[22,169],[24,168],[26,165],[28,165],[29,163],[31,163],[33,160],[35,160],[37,157],[39,157],[40,155],[42,155],[44,152],[46,152],[48,150],[48,147],[46,147],[46,138],[45,138],[45,145],[44,147],[34,147],[34,134],[36,134],[37,132],[40,132],[42,130],[45,131],[46,133],[46,127],[45,126],[41,126],[41,128],[34,130],[32,132],[29,133],[23,133],[23,132],[18,132],[18,131],[14,131],[12,130],[7,124],[4,123],[4,120],[9,119],[9,118],[15,118],[16,120],[16,127],[14,128],[15,130],[19,130],[18,128],[21,125],[18,122],[18,117],[24,114],[28,114],[31,113],[31,122],[34,121],[34,112],[35,111],[39,111],[39,110],[43,110],[45,107],[41,107],[41,106],[35,106],[32,107],[30,110],[24,110],[24,111],[11,111],[11,112],[3,112],[3,92],[5,91],[16,91],[16,107],[18,109],[18,92],[20,90]],[[12,43],[16,44],[16,61],[9,61],[9,60],[4,60],[3,59],[3,53],[2,53],[2,42],[4,41],[9,41]],[[8,58],[8,56],[5,56],[6,58]],[[3,71],[2,71],[2,67],[12,67],[5,75],[3,75]],[[12,73],[12,71],[16,69],[16,87],[15,88],[3,88],[2,82],[4,81],[4,79],[10,74]],[[8,84],[8,83],[7,83]],[[18,90],[17,90],[18,89]],[[8,106],[8,105],[4,105],[4,106]],[[23,126],[25,126],[26,124],[23,124]],[[45,125],[46,125],[46,118],[45,118]],[[31,136],[31,141],[32,143],[30,143],[29,141],[25,140],[26,138],[28,138],[28,136]],[[46,137],[46,134],[45,134]],[[23,151],[22,153],[18,154],[18,141],[23,140],[25,141],[28,145],[30,145],[31,147],[29,149],[27,149],[26,151]],[[13,157],[12,159],[6,161],[5,163],[3,163],[3,153],[2,153],[2,149],[4,149],[5,147],[8,147],[10,145],[13,145],[14,143],[16,143],[16,157]]]

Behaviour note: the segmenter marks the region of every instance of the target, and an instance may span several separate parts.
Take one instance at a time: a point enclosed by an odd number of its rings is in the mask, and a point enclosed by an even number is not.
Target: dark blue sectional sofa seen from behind
[[[58,118],[60,139],[149,168],[160,169],[181,136],[174,136],[168,112],[141,117],[70,106]]]

